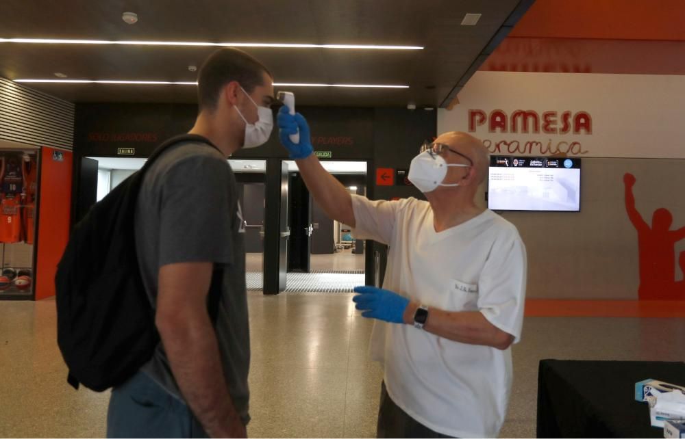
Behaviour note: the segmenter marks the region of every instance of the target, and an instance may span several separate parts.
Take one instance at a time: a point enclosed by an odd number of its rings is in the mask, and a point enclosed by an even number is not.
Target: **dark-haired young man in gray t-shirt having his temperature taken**
[[[112,390],[108,437],[247,436],[245,228],[227,157],[269,139],[273,78],[247,53],[221,49],[202,66],[198,92],[189,134],[201,137],[164,152],[138,196],[136,249],[161,343]],[[223,279],[212,323],[216,269]]]

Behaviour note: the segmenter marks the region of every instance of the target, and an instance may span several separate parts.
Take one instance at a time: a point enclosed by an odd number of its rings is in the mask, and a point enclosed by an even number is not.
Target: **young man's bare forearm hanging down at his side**
[[[171,371],[190,410],[207,434],[229,437],[229,427],[242,421],[228,393],[219,346],[206,311],[203,317],[180,312],[177,318],[158,326]]]

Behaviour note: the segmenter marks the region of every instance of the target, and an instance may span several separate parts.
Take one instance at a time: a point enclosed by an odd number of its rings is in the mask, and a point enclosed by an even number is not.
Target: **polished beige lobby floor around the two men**
[[[350,297],[249,293],[251,437],[374,436],[382,374]],[[683,346],[685,319],[527,318],[501,436],[535,436],[540,359],[682,361]],[[103,436],[108,394],[65,377],[55,302],[0,302],[0,437]]]

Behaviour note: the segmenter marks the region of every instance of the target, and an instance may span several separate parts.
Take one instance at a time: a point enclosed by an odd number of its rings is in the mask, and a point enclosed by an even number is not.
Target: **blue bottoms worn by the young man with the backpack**
[[[208,438],[188,405],[138,372],[112,390],[108,438]]]

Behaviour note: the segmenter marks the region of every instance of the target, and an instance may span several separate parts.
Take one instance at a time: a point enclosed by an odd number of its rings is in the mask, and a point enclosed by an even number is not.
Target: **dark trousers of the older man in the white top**
[[[381,384],[381,404],[378,409],[377,438],[451,438],[429,429],[390,399],[385,383]]]

